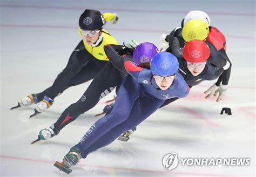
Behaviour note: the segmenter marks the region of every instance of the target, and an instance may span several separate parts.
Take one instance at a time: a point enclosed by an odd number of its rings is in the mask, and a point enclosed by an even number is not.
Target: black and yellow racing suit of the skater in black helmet
[[[109,21],[113,18],[113,13],[104,13],[103,17],[105,21]],[[68,64],[64,70],[58,74],[52,86],[36,94],[38,101],[43,100],[44,96],[55,99],[55,97],[66,90],[66,88],[93,79],[96,74],[103,69],[109,62],[104,52],[104,45],[118,44],[118,42],[106,30],[102,30],[102,35],[100,35],[98,40],[101,41],[97,46],[93,47],[92,45],[86,44],[83,40],[80,41],[71,53]]]

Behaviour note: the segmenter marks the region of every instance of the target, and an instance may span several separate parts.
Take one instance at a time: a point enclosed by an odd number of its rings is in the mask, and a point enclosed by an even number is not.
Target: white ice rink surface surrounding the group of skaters
[[[255,176],[255,1],[1,1],[1,176]],[[128,142],[114,141],[82,159],[73,172],[53,166],[99,118],[105,101],[66,126],[57,137],[30,145],[84,93],[71,87],[48,111],[28,120],[33,106],[10,111],[19,100],[49,87],[80,41],[78,18],[85,9],[116,12],[106,24],[119,43],[152,42],[180,26],[190,10],[203,10],[224,33],[232,62],[226,99],[205,100],[214,81],[193,87],[187,98],[161,108],[137,127]],[[221,115],[230,107],[232,115]],[[250,158],[249,166],[182,166],[166,172],[165,154],[179,158]]]

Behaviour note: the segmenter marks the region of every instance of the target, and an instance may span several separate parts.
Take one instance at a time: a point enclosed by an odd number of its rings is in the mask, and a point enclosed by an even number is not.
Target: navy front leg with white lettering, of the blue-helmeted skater
[[[82,140],[76,145],[82,152],[112,127],[125,121],[132,110],[134,101],[139,96],[140,85],[137,81],[127,76],[117,94],[116,104],[113,110],[93,124],[85,133]]]

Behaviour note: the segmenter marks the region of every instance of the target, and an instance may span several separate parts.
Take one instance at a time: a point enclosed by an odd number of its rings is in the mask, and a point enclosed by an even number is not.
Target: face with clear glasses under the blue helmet
[[[158,76],[154,75],[153,78],[156,80],[157,86],[161,90],[167,90],[172,85],[173,79],[175,78],[176,74],[172,76]]]

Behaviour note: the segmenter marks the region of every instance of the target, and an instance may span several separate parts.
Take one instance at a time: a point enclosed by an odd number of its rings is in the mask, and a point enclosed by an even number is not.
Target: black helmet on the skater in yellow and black
[[[86,9],[79,18],[79,26],[83,30],[98,30],[105,20],[98,10]]]

